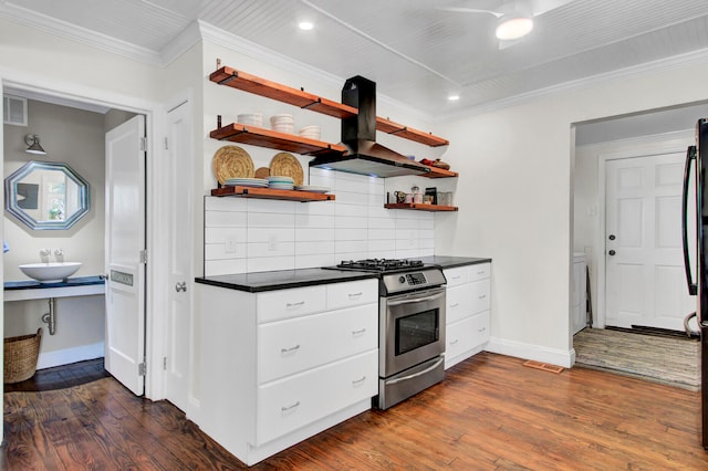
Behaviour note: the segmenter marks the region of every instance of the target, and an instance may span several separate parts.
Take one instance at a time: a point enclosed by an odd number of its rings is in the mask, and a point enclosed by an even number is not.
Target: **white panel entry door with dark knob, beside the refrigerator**
[[[606,324],[684,329],[695,310],[681,252],[683,153],[608,160]],[[691,198],[689,198],[690,200]],[[689,228],[695,233],[695,228]]]

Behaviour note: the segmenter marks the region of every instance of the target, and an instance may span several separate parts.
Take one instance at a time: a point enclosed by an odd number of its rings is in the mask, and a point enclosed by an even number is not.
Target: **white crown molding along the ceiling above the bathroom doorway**
[[[12,2],[0,3],[0,18],[103,51],[119,54],[135,61],[146,62],[148,64],[162,64],[159,53],[156,51],[28,10]]]

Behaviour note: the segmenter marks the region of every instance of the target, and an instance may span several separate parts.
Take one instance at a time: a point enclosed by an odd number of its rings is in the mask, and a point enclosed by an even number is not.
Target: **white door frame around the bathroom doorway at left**
[[[146,367],[145,376],[145,397],[153,400],[164,398],[164,371],[159,358],[164,355],[164,342],[162,339],[165,318],[163,313],[166,312],[165,293],[166,276],[159,271],[160,266],[166,266],[167,251],[159,243],[164,237],[166,229],[160,226],[158,216],[162,213],[165,201],[160,195],[165,193],[165,186],[168,181],[160,178],[162,171],[166,163],[166,154],[160,146],[164,135],[166,108],[153,101],[127,96],[105,90],[94,88],[75,83],[66,83],[61,81],[52,81],[53,86],[46,86],[46,77],[40,77],[28,73],[12,73],[10,71],[0,71],[0,88],[6,87],[27,91],[28,93],[44,95],[55,100],[55,103],[63,106],[75,106],[82,103],[86,105],[98,105],[108,108],[116,108],[145,116],[146,136],[147,136],[147,163],[146,163],[146,206],[145,212],[147,222],[146,231],[146,249],[148,253],[147,266],[145,270],[145,338],[146,338]],[[3,142],[2,132],[0,129],[0,143]],[[4,161],[4,153],[0,147],[0,157]],[[4,198],[4,197],[3,197]],[[3,200],[4,203],[4,200]],[[0,236],[4,233],[4,221],[0,222]],[[4,261],[0,258],[0,271],[3,270]],[[4,300],[4,294],[0,301]],[[0,332],[2,332],[2,322],[4,322],[4,308],[0,303]],[[1,386],[0,386],[1,387]],[[1,437],[0,432],[0,437]]]

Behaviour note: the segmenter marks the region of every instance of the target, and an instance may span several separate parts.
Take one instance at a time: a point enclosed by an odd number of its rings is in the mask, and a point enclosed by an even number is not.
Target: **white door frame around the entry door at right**
[[[605,328],[605,205],[606,181],[605,172],[608,160],[620,160],[637,157],[650,157],[663,154],[686,153],[687,139],[695,138],[695,130],[679,130],[675,133],[656,134],[642,138],[623,139],[605,143],[597,154],[597,233],[593,259],[595,262],[595,290],[596,302],[593,306],[593,327]],[[678,223],[678,222],[677,222]],[[591,261],[592,263],[592,261]]]

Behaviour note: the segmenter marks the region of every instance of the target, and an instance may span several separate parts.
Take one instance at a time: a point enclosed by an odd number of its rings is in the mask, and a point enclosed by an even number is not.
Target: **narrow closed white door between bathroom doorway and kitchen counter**
[[[183,103],[167,114],[169,135],[169,310],[165,358],[165,397],[181,410],[187,410],[189,397],[189,358],[191,320],[191,104]]]

